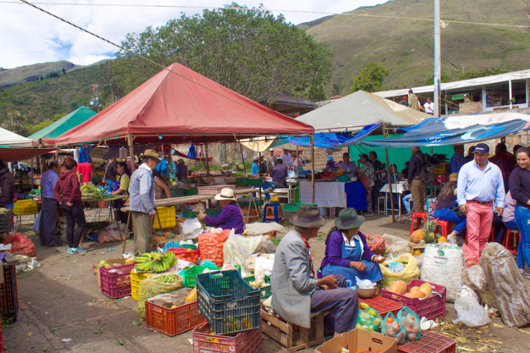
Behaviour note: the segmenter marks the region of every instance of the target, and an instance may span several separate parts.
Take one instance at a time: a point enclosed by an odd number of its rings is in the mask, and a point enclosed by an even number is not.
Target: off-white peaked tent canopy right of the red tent
[[[308,112],[297,120],[312,125],[318,132],[333,132],[333,130],[360,130],[366,125],[377,123],[400,127],[411,126],[429,117],[432,115],[377,97],[369,92],[357,91]]]

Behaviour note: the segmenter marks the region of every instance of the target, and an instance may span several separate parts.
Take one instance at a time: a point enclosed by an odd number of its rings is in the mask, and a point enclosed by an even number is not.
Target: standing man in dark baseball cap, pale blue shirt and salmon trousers
[[[488,242],[493,222],[493,203],[498,216],[504,208],[504,181],[499,167],[490,161],[485,143],[475,146],[473,161],[458,172],[456,200],[467,218],[467,245],[462,247],[466,265],[476,265]]]

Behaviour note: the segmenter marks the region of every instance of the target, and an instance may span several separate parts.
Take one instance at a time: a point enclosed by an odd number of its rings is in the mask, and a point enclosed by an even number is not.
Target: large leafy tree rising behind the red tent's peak
[[[231,90],[264,101],[275,92],[302,94],[328,82],[333,53],[263,6],[183,14],[157,29],[127,34],[122,46],[167,66],[186,65]],[[125,92],[161,68],[121,50],[115,72]]]

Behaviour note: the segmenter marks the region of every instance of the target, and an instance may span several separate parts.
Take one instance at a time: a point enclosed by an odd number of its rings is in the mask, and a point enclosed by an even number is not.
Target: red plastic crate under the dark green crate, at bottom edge
[[[225,336],[210,334],[210,325],[206,323],[195,328],[192,337],[193,353],[255,353],[261,350],[263,343],[261,326],[235,336]]]

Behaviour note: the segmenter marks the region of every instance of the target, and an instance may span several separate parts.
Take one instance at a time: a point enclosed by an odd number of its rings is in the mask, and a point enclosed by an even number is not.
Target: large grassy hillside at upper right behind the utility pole
[[[360,8],[350,15],[336,15],[303,23],[317,41],[335,51],[333,84],[342,94],[349,92],[353,76],[369,63],[380,62],[390,69],[383,85],[388,89],[424,85],[433,74],[433,23],[409,19],[362,17],[371,14],[391,17],[432,18],[432,0],[393,0],[379,6]],[[482,23],[507,23],[530,27],[527,0],[444,0],[441,19]],[[530,32],[524,28],[495,28],[445,23],[441,30],[442,77],[448,80],[469,69],[530,68]]]

